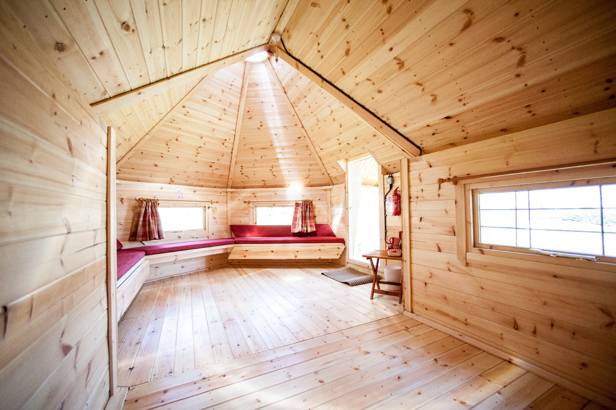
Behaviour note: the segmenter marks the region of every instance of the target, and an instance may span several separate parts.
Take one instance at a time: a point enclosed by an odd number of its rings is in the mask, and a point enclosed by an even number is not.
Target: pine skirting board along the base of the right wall
[[[466,334],[461,333],[460,331],[454,330],[452,328],[448,328],[444,324],[439,323],[439,321],[436,321],[432,318],[430,319],[425,318],[424,316],[417,315],[416,313],[408,312],[408,310],[404,311],[404,315],[408,316],[409,318],[415,319],[418,322],[427,324],[428,326],[431,326],[434,329],[437,329],[443,333],[446,333],[449,336],[453,336],[456,339],[460,339],[463,342],[468,343],[469,345],[472,345],[476,348],[480,348],[481,350],[484,350],[484,352],[488,352],[491,355],[494,355],[498,358],[508,361],[511,364],[515,364],[519,368],[522,368],[526,371],[534,373],[537,376],[543,377],[543,379],[546,379],[561,387],[564,387],[567,390],[572,391],[573,393],[577,393],[580,396],[583,396],[589,400],[594,401],[595,403],[601,404],[601,406],[607,407],[612,410],[616,410],[616,401],[611,400],[605,396],[602,396],[599,393],[593,392],[592,390],[586,387],[570,382],[569,380],[564,379],[564,377],[557,376],[553,372],[550,372],[543,368],[535,366],[535,364],[529,363],[525,360],[522,360],[519,357],[506,353],[503,350],[500,350],[499,348],[493,347],[492,345],[482,342],[479,339],[477,339],[476,336],[468,336]]]

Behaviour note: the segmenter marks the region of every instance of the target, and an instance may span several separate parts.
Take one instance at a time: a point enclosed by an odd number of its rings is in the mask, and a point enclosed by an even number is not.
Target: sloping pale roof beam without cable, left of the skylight
[[[129,105],[145,100],[145,98],[153,97],[154,95],[161,94],[166,90],[181,86],[189,81],[203,78],[208,74],[215,73],[222,68],[245,60],[245,58],[248,58],[251,55],[267,50],[267,48],[267,44],[253,47],[252,49],[240,52],[238,54],[221,58],[221,60],[216,60],[206,65],[193,68],[192,70],[184,71],[184,73],[179,73],[169,78],[161,79],[160,81],[153,82],[147,86],[124,92],[120,95],[115,95],[107,100],[94,103],[91,107],[99,116],[105,116],[109,113],[113,113],[113,111],[120,110],[120,108],[128,107]]]

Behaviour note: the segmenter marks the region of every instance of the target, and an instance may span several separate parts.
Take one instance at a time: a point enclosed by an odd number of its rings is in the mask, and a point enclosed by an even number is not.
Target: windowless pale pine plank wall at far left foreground
[[[102,409],[107,134],[0,6],[2,409]]]

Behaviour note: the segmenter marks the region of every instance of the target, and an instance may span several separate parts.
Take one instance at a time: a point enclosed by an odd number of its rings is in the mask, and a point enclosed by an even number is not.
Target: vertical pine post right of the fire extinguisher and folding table
[[[402,205],[402,280],[404,283],[404,310],[413,312],[411,283],[411,207],[408,158],[400,159],[400,200]]]

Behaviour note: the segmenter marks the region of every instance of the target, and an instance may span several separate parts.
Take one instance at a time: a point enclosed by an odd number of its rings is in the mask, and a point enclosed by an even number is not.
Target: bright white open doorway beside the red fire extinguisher
[[[372,156],[349,161],[349,258],[379,249],[379,165]]]

